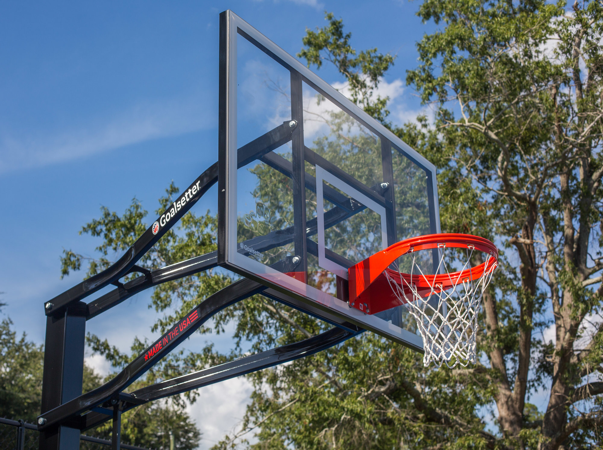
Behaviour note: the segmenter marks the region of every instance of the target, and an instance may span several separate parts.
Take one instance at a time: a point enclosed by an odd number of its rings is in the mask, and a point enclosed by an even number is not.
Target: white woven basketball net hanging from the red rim
[[[452,369],[456,364],[466,367],[467,364],[477,362],[476,335],[478,331],[478,312],[482,295],[490,283],[496,264],[492,264],[493,256],[487,255],[485,266],[487,270],[482,276],[471,279],[467,274],[463,277],[456,275],[458,270],[448,270],[444,261],[444,250],[441,248],[440,262],[436,273],[447,273],[447,278],[452,287],[438,290],[433,275],[425,275],[418,264],[415,263],[416,253],[412,253],[411,279],[425,281],[431,287],[431,293],[421,297],[416,285],[408,282],[400,273],[403,286],[394,280],[387,270],[385,276],[396,297],[403,303],[408,312],[417,322],[418,332],[423,338],[423,365],[429,366],[432,361],[437,367],[446,363]],[[467,260],[462,270],[470,268],[470,259],[473,249],[467,249]],[[490,263],[490,264],[488,264]],[[399,270],[398,270],[399,271]],[[414,277],[413,277],[414,276]],[[422,283],[425,285],[425,283]],[[406,290],[406,292],[405,292]],[[423,291],[425,296],[425,291]],[[452,363],[451,363],[452,361]]]

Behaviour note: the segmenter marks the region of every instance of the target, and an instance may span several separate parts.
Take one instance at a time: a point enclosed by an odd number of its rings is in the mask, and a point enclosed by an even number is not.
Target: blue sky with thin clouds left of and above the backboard
[[[333,11],[344,19],[357,49],[377,47],[397,55],[384,92],[392,97],[391,119],[399,122],[423,108],[403,85],[406,69],[417,65],[415,42],[432,30],[415,16],[418,5],[5,2],[0,14],[4,316],[42,343],[43,303],[83,277],[82,272],[60,280],[59,256],[63,249],[93,256],[100,241],[79,236],[78,230],[98,217],[100,206],[121,214],[136,197],[152,212],[171,180],[183,188],[217,160],[219,12],[232,9],[295,54],[306,27],[322,27],[324,11]],[[318,74],[329,83],[343,81],[328,65]],[[195,210],[207,208],[216,211],[215,189]],[[87,329],[122,350],[134,335],[153,339],[149,328],[156,313],[147,303],[148,293],[141,293],[90,320]],[[214,338],[218,348],[230,346],[227,336]],[[95,364],[107,369],[98,359]],[[230,386],[242,392],[244,404],[244,386]],[[229,411],[224,414],[240,413]],[[207,442],[228,431],[224,426],[205,429]]]

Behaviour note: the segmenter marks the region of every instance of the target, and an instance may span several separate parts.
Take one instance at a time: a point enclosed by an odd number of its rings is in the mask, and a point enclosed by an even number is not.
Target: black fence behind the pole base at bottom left
[[[37,426],[33,423],[0,417],[0,450],[37,450],[38,436]],[[110,440],[84,434],[80,436],[80,450],[107,450],[110,447]],[[124,443],[122,443],[121,448],[125,450],[149,450]]]

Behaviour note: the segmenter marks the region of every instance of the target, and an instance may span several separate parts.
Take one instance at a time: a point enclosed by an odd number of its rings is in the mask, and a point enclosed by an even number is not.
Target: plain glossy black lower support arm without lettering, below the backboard
[[[276,349],[266,350],[218,366],[208,367],[198,370],[188,375],[178,376],[166,381],[162,381],[129,394],[122,393],[119,399],[122,401],[122,411],[130,410],[138,405],[152,402],[172,395],[182,394],[200,387],[225,381],[236,376],[246,375],[257,370],[268,369],[268,367],[278,364],[288,363],[299,358],[313,355],[314,353],[326,350],[343,341],[354,337],[361,331],[351,332],[339,328],[332,328],[329,331],[317,336],[288,344]],[[101,411],[92,411],[83,417],[81,429],[89,429],[101,425],[101,423],[110,420],[110,411],[106,413]]]

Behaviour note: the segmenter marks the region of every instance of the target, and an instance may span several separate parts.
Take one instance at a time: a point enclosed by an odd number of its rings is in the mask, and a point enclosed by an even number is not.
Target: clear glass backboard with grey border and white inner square
[[[422,350],[402,306],[350,308],[347,269],[440,232],[435,167],[232,11],[219,75],[218,263]]]

